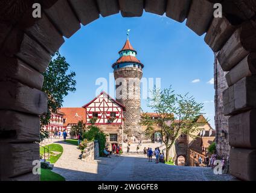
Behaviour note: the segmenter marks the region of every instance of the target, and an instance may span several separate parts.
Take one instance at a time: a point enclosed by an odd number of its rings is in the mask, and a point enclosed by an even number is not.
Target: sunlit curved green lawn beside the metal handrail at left
[[[47,159],[47,161],[50,161],[51,163],[57,162],[57,160],[60,158],[60,156],[63,153],[63,147],[59,144],[50,144],[45,145],[46,148],[49,149],[50,159]],[[43,154],[43,147],[40,147],[40,154]],[[54,151],[59,152],[59,154],[54,154]],[[45,154],[48,156],[48,150],[45,149]]]

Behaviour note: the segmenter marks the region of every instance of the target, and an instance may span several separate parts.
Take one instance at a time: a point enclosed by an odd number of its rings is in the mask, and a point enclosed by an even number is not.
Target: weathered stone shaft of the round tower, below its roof
[[[121,68],[115,70],[114,75],[117,84],[117,101],[126,107],[126,111],[124,111],[124,133],[130,137],[135,136],[135,138],[140,139],[142,133],[139,125],[141,118],[140,80],[142,70],[139,68]],[[126,82],[120,85],[118,78],[124,78]],[[120,89],[120,86],[123,86],[123,89]]]

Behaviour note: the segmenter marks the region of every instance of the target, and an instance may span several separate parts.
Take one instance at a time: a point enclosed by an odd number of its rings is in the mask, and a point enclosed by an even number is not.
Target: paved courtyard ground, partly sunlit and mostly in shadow
[[[130,156],[100,157],[94,162],[84,162],[78,159],[80,150],[75,145],[56,141],[63,146],[63,154],[54,164],[54,172],[65,177],[66,180],[169,180],[169,181],[208,181],[208,180],[236,180],[223,174],[215,175],[210,168],[172,166],[163,163],[148,162],[146,156],[133,154]]]

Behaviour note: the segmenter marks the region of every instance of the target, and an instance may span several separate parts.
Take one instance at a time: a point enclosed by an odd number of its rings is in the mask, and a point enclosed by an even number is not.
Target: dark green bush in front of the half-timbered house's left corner
[[[83,139],[87,139],[89,142],[97,140],[100,151],[100,156],[103,156],[103,150],[106,145],[106,134],[104,134],[100,128],[95,125],[90,125],[89,130],[83,133]]]

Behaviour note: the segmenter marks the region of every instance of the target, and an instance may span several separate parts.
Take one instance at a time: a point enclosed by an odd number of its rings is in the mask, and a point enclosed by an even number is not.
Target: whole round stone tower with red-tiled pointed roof
[[[141,127],[141,77],[144,65],[136,59],[136,50],[133,49],[127,37],[123,48],[118,52],[120,58],[112,65],[116,84],[117,101],[126,107],[124,111],[124,133],[127,136],[140,137]]]

